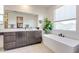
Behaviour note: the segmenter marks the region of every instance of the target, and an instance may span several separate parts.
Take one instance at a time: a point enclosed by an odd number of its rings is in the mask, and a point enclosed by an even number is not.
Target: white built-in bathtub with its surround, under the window
[[[43,43],[57,53],[79,52],[79,41],[53,34],[43,35]]]

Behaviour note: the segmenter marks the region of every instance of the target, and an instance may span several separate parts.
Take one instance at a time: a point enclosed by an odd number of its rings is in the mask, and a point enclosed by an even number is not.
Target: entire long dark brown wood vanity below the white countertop
[[[42,31],[18,31],[4,33],[4,50],[40,43]]]

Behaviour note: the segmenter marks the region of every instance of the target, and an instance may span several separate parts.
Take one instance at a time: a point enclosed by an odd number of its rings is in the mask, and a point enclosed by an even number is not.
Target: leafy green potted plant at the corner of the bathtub
[[[53,23],[48,18],[44,19],[43,25],[43,30],[45,33],[50,33],[50,31],[53,29]]]

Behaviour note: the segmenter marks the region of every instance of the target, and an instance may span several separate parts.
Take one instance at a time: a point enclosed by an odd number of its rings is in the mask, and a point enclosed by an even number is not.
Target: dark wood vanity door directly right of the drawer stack
[[[26,32],[17,32],[16,46],[21,47],[27,45]]]

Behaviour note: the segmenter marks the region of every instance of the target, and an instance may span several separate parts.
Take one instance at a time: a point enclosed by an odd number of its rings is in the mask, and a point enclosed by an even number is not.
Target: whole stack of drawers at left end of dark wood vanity
[[[4,33],[4,50],[12,49],[16,47],[16,33],[6,32]]]

